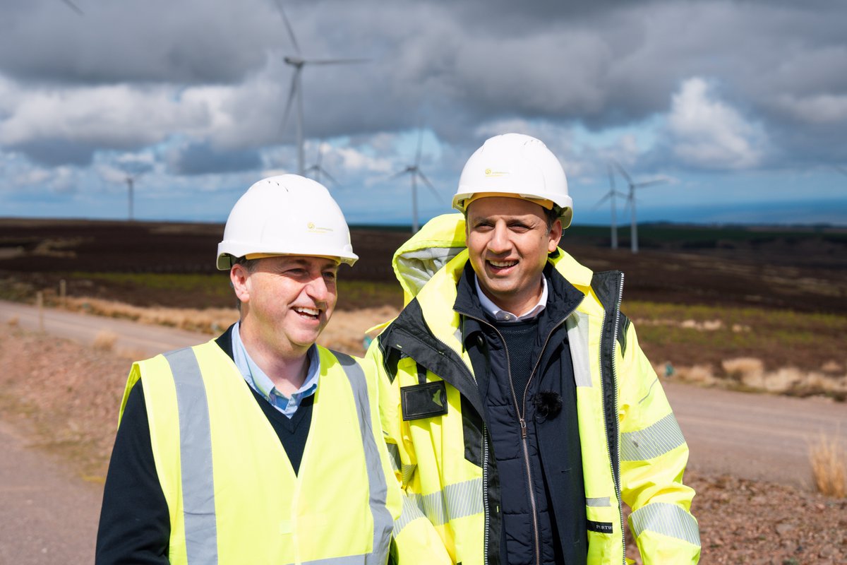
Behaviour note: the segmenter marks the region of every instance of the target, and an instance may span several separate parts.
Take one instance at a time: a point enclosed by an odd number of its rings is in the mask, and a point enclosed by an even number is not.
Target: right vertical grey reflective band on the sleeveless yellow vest
[[[368,486],[370,487],[370,508],[374,516],[374,549],[365,556],[366,565],[384,565],[388,560],[388,549],[394,518],[391,517],[386,499],[388,486],[379,460],[379,448],[374,440],[374,428],[371,425],[368,383],[362,367],[352,357],[344,353],[332,352],[344,368],[353,397],[356,399],[359,429],[362,431],[362,444],[365,452],[365,466],[368,468]],[[381,438],[381,435],[380,435]],[[381,440],[381,439],[380,439]],[[321,563],[344,563],[342,560],[322,560]],[[361,561],[360,561],[361,562]]]

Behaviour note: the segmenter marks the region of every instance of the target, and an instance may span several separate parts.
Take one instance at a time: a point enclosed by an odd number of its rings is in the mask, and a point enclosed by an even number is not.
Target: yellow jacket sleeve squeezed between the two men
[[[400,387],[396,375],[385,371],[379,338],[368,348],[367,358],[374,362],[379,384],[379,419],[391,467],[401,492],[401,512],[394,521],[391,557],[398,565],[452,563],[435,527],[414,501],[412,477],[417,461],[408,439],[407,424],[400,410]],[[405,429],[405,431],[404,431]]]

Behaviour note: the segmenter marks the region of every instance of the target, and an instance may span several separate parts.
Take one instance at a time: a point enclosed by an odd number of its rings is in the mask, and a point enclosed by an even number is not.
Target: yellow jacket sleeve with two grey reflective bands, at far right
[[[700,530],[690,513],[695,492],[683,484],[688,445],[633,324],[624,328],[617,374],[621,496],[633,510],[629,529],[645,565],[696,563]]]

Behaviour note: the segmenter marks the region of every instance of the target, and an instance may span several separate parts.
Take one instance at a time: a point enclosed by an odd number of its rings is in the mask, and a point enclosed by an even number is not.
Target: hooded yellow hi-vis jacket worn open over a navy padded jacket
[[[696,563],[700,534],[689,512],[694,490],[682,482],[688,446],[633,324],[619,311],[623,274],[593,274],[561,250],[550,260],[584,294],[566,327],[585,500],[562,504],[585,505],[593,524],[588,562],[627,561],[626,503],[633,510],[629,527],[645,565]],[[394,527],[398,546],[408,538],[438,535],[453,562],[475,565],[499,562],[489,524],[500,511],[501,485],[487,427],[481,434],[463,427],[463,411],[479,405],[479,398],[473,399],[473,365],[462,343],[462,317],[452,309],[467,261],[460,214],[431,220],[401,246],[394,269],[407,307],[374,340],[368,357],[382,368],[380,416],[406,495]],[[434,396],[435,415],[404,419],[409,409],[404,402],[412,397],[401,389],[441,380],[446,409],[435,409],[442,402]],[[433,388],[436,394],[438,388]],[[418,412],[426,408],[424,401],[414,401]]]

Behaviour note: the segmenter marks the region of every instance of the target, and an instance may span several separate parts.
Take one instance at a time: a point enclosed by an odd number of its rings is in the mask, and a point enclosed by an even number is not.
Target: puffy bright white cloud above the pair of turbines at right
[[[757,125],[713,96],[701,78],[685,80],[667,116],[673,152],[706,169],[749,169],[761,163],[767,139]]]

